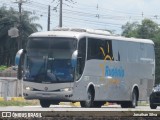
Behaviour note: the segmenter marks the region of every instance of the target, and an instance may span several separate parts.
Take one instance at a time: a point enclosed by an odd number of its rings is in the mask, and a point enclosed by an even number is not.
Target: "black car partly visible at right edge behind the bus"
[[[160,106],[160,84],[153,88],[149,100],[151,109],[156,109],[157,106]]]

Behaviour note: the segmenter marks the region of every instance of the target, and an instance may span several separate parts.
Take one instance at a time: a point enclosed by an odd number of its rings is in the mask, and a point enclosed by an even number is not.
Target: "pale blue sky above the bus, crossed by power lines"
[[[18,10],[15,1],[0,0],[0,5]],[[27,0],[22,4],[23,10],[39,17],[35,22],[42,25],[41,31],[47,30],[48,5],[53,29],[59,25],[59,0]],[[127,22],[140,23],[149,18],[159,24],[159,5],[160,0],[63,0],[63,27],[106,29],[121,34],[121,27]]]

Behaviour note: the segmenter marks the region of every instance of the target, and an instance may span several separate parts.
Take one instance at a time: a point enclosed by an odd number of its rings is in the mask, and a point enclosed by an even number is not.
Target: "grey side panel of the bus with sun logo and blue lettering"
[[[129,101],[134,86],[139,100],[147,100],[154,84],[152,44],[87,38],[83,74],[75,82],[74,99],[85,100],[94,86],[95,101]]]

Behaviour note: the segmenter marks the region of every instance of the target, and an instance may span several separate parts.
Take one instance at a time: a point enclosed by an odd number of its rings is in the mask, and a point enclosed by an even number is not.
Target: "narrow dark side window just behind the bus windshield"
[[[77,80],[81,77],[86,60],[86,38],[82,38],[78,43],[78,58],[77,58]]]

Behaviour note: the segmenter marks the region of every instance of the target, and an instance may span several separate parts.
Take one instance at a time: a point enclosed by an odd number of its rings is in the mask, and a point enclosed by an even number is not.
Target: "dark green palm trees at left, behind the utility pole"
[[[22,11],[22,19],[19,21],[19,12],[13,8],[9,10],[3,6],[0,8],[0,65],[14,65],[15,54],[18,51],[18,39],[10,38],[8,36],[8,30],[21,24],[22,43],[23,48],[26,46],[27,37],[42,29],[39,24],[34,23],[38,20],[38,17],[31,16],[31,12]]]

